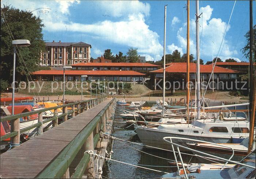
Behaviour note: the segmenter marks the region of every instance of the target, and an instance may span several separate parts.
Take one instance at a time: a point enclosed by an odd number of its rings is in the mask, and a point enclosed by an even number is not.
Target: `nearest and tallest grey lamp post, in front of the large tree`
[[[15,92],[15,59],[16,47],[27,47],[30,45],[29,40],[12,40],[13,49],[13,72],[12,72],[12,115],[14,115],[14,92]]]

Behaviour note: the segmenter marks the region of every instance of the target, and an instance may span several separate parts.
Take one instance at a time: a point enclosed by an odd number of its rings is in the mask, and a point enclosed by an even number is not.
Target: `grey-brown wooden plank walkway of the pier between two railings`
[[[110,102],[78,114],[0,156],[0,178],[35,178]]]

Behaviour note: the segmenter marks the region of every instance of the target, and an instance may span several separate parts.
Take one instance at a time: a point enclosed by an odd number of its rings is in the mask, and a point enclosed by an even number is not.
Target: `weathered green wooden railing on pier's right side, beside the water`
[[[84,173],[94,178],[94,174],[89,171],[89,168],[94,167],[93,161],[90,160],[90,154],[84,152],[102,147],[98,143],[100,132],[106,131],[106,122],[114,112],[115,103],[116,99],[112,99],[35,178],[69,178],[69,166],[74,164],[77,157],[80,157],[79,162],[76,161],[75,171],[70,174],[70,178],[82,178]],[[82,156],[78,153],[82,153]]]

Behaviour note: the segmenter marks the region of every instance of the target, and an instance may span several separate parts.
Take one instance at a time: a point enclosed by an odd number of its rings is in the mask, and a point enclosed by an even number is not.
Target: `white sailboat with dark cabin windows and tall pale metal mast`
[[[166,11],[166,7],[165,7]],[[166,13],[166,12],[165,12]],[[166,14],[165,14],[166,16]],[[167,136],[183,137],[204,140],[212,143],[241,143],[242,140],[249,137],[249,122],[246,120],[225,121],[220,119],[201,118],[201,100],[200,100],[200,57],[199,57],[199,2],[196,1],[196,41],[197,41],[197,98],[196,98],[196,116],[192,123],[188,124],[161,124],[158,127],[138,126],[136,133],[142,143],[148,148],[158,147],[170,149],[170,146],[163,140]],[[189,21],[189,18],[188,18]],[[188,22],[189,23],[189,22]],[[188,25],[189,27],[189,25]],[[189,39],[188,39],[189,40]],[[189,54],[187,54],[189,57]],[[165,57],[165,40],[164,40]],[[165,58],[164,58],[165,64]],[[213,70],[213,69],[212,69]],[[165,78],[165,65],[163,68],[163,77]],[[165,83],[165,79],[163,79]],[[165,85],[163,92],[165,92]],[[165,93],[164,93],[165,94]],[[164,101],[165,95],[163,95]],[[189,110],[189,107],[187,106]],[[187,111],[188,111],[187,110]],[[163,108],[164,111],[164,108]],[[165,114],[163,112],[163,114]],[[189,113],[187,114],[189,115]],[[188,118],[189,119],[189,118]],[[187,120],[188,121],[188,120]],[[241,132],[235,132],[236,128]],[[245,129],[245,130],[243,130]],[[252,129],[253,130],[253,129]],[[150,136],[150,138],[148,138]],[[175,142],[185,145],[188,141],[175,140]]]

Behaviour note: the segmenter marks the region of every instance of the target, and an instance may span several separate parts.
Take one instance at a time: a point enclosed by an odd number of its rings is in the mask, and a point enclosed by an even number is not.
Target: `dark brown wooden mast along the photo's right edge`
[[[256,77],[253,68],[253,21],[252,21],[252,0],[250,0],[250,100],[249,100],[249,112],[250,116],[250,134],[249,134],[249,145],[248,145],[248,154],[252,151],[252,143],[253,143],[253,136],[254,136],[254,123],[255,123],[255,106],[256,106]]]

